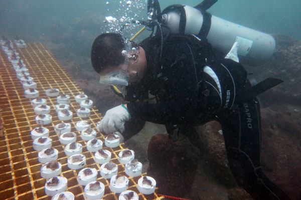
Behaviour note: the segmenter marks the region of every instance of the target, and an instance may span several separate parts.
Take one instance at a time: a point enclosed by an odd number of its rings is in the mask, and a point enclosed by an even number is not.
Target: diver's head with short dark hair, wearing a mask
[[[143,48],[116,33],[101,34],[94,40],[91,62],[100,74],[99,82],[108,85],[137,83],[146,67]]]

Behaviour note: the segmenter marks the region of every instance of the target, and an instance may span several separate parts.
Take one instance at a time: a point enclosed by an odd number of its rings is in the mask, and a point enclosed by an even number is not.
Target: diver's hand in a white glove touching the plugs
[[[104,134],[124,131],[124,123],[129,120],[130,114],[126,105],[121,104],[106,111],[103,119],[98,124],[98,129]]]

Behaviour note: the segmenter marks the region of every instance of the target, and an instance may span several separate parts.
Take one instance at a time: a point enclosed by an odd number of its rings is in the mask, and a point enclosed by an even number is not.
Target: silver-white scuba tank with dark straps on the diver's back
[[[225,55],[237,46],[237,56],[243,64],[257,66],[273,55],[275,39],[271,35],[212,16],[206,10],[213,4],[205,7],[200,4],[194,8],[172,5],[162,11],[162,19],[159,20],[163,29],[166,27],[165,31],[168,29],[171,33],[196,34],[207,38],[214,48]]]

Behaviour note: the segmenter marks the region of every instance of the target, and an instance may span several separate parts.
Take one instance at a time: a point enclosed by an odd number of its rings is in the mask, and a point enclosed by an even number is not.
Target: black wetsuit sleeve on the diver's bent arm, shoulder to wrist
[[[154,123],[190,123],[197,115],[198,92],[191,47],[187,43],[173,44],[164,52],[162,80],[167,86],[163,89],[168,90],[167,100],[160,99],[157,104],[129,103],[127,108],[132,116]]]

